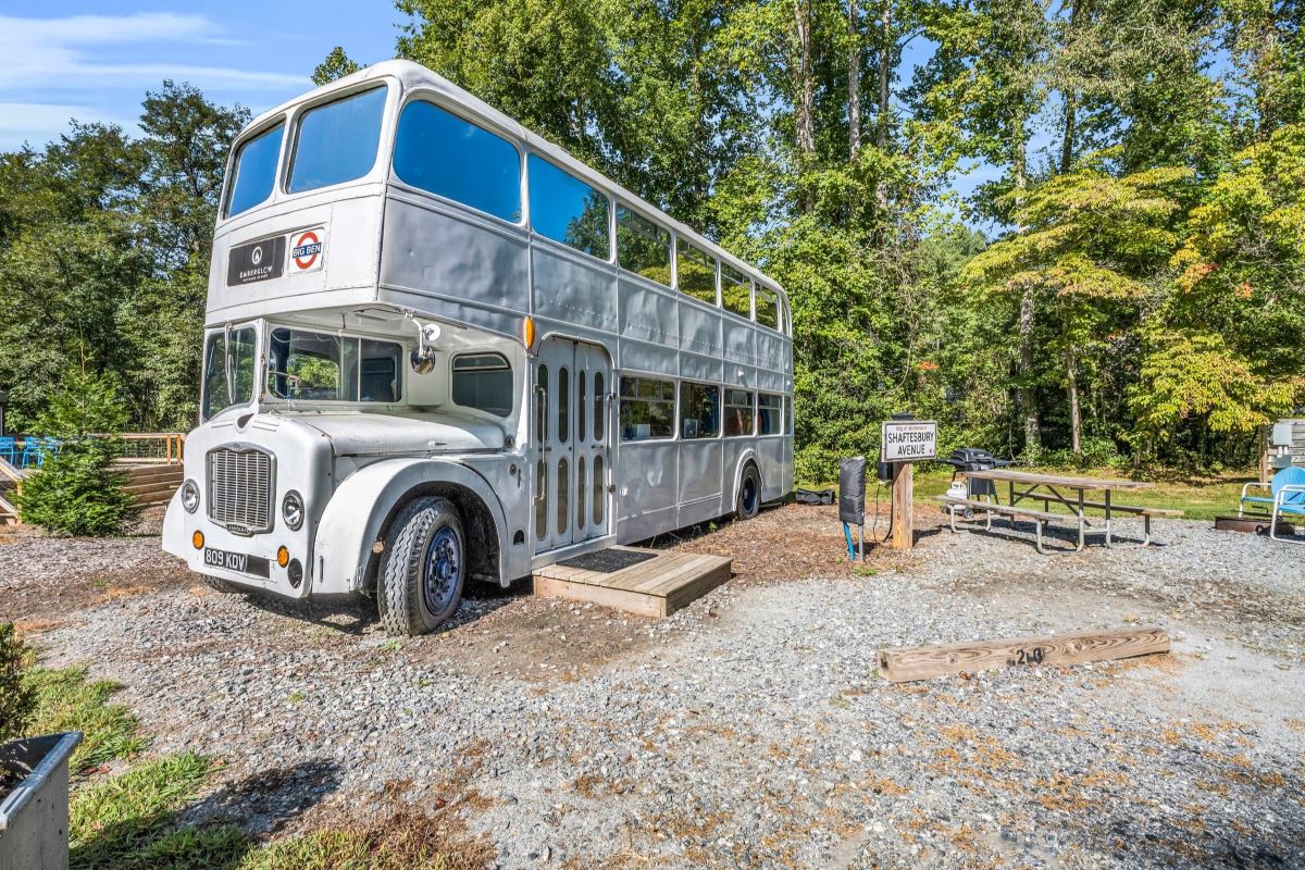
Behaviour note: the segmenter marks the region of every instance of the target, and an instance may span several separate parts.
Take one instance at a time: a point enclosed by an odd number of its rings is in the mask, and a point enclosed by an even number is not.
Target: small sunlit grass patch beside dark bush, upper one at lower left
[[[27,727],[31,734],[80,730],[85,737],[73,753],[73,773],[115,758],[132,758],[149,746],[137,734],[136,716],[123,704],[108,703],[121,689],[111,680],[86,680],[86,668],[31,668],[23,682],[37,698]]]

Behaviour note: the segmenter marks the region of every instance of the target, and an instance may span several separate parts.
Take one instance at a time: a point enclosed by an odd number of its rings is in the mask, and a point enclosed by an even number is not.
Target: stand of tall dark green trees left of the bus
[[[164,82],[142,137],[73,124],[0,158],[0,383],[30,429],[63,372],[112,372],[132,424],[196,417],[200,331],[226,155],[248,120]]]

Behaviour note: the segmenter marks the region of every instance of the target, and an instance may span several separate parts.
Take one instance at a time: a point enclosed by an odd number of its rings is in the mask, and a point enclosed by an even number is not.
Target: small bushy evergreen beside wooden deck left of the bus
[[[134,510],[114,470],[127,420],[116,383],[102,374],[73,372],[40,416],[38,427],[61,438],[57,455],[23,483],[18,510],[25,523],[63,535],[114,535]],[[93,434],[94,433],[94,434]]]

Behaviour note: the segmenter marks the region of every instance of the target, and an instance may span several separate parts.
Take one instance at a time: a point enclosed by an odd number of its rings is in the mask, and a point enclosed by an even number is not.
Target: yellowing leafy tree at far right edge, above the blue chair
[[[1205,190],[1148,318],[1130,398],[1151,453],[1193,434],[1251,436],[1305,395],[1305,125],[1240,151]],[[1171,451],[1172,457],[1172,451]]]

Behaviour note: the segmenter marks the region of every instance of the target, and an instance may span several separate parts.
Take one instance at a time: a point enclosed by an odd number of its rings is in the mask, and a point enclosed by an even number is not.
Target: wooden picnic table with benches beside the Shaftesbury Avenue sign
[[[1151,543],[1152,517],[1182,517],[1181,510],[1168,510],[1164,507],[1143,507],[1141,505],[1125,505],[1114,501],[1117,492],[1137,492],[1152,489],[1155,484],[1141,480],[1111,480],[1105,477],[1069,477],[1064,475],[1044,475],[1032,471],[1013,471],[1010,468],[993,468],[990,471],[962,472],[972,480],[990,480],[993,483],[1005,481],[1007,485],[1007,503],[1002,505],[998,498],[993,501],[979,501],[976,498],[960,498],[957,496],[937,496],[936,500],[947,506],[951,520],[951,531],[957,531],[957,511],[984,511],[987,528],[992,528],[993,515],[1007,517],[1011,528],[1019,519],[1034,523],[1036,531],[1036,547],[1039,553],[1043,549],[1043,528],[1051,522],[1073,522],[1078,527],[1078,547],[1074,552],[1083,549],[1088,535],[1103,535],[1105,547],[1113,547],[1112,519],[1117,514],[1129,517],[1142,517],[1146,533],[1142,547]],[[1087,493],[1101,493],[1100,498],[1088,498]],[[1043,502],[1043,509],[1023,506],[1022,502]],[[1051,510],[1052,502],[1067,509],[1067,514],[1054,514]],[[1088,517],[1088,510],[1104,511],[1104,526],[1094,528],[1094,519]]]

